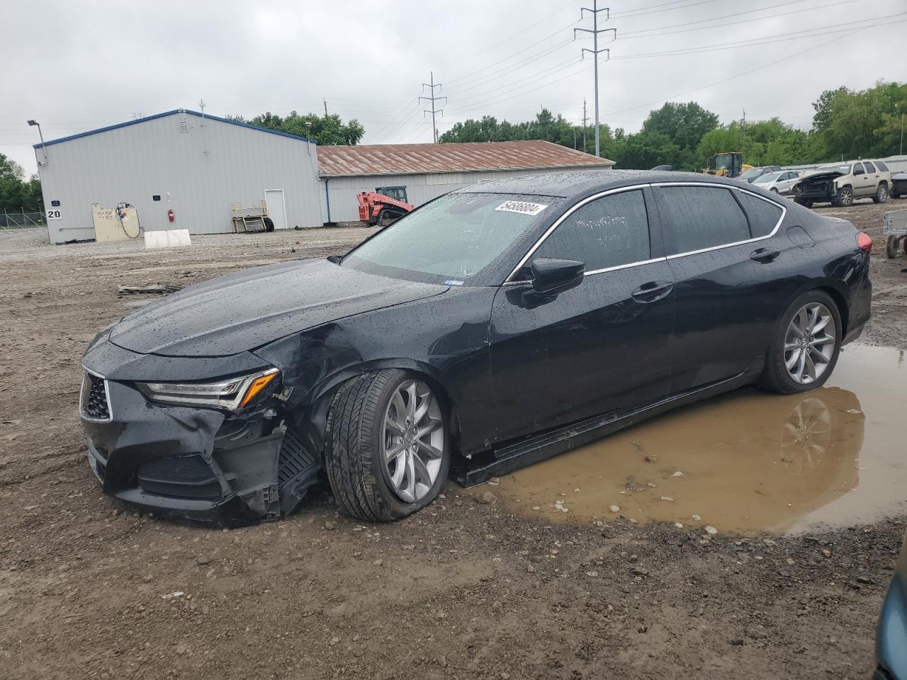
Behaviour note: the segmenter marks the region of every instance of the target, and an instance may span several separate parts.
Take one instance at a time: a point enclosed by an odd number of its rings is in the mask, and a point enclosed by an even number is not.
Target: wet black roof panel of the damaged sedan
[[[714,175],[673,170],[564,170],[539,172],[502,180],[471,184],[455,193],[499,193],[580,199],[590,194],[652,182],[701,182],[740,187],[740,183]]]

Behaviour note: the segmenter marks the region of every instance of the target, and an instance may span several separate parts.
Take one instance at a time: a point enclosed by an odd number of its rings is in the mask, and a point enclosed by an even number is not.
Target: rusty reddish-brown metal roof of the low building
[[[613,160],[542,140],[319,146],[317,150],[318,174],[322,177],[614,165]]]

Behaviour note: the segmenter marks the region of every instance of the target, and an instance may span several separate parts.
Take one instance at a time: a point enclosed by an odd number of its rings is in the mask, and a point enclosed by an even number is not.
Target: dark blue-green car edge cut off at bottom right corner
[[[907,680],[907,537],[879,616],[873,680]]]

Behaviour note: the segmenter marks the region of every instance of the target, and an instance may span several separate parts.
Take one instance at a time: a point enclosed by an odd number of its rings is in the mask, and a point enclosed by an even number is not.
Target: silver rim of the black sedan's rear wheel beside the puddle
[[[834,316],[820,302],[800,307],[785,333],[785,368],[797,384],[819,380],[828,370],[837,343]]]

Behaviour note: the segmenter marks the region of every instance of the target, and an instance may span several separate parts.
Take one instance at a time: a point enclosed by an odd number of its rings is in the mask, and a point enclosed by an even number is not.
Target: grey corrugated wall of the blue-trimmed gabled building
[[[265,189],[283,189],[288,228],[324,221],[315,144],[185,114],[140,121],[46,147],[40,168],[53,243],[94,238],[92,204],[131,203],[145,230],[188,228],[192,234],[232,230],[230,201],[258,205]],[[43,160],[41,149],[37,158]],[[152,200],[153,195],[160,201]],[[354,199],[355,200],[355,199]],[[173,209],[176,220],[167,221]]]

